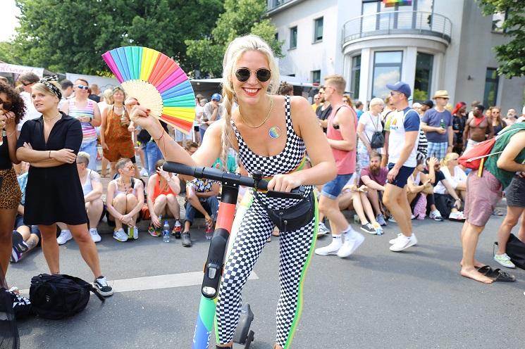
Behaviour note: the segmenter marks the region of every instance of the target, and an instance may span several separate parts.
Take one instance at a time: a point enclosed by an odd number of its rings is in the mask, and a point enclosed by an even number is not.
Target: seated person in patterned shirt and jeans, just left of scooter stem
[[[184,221],[183,246],[191,246],[190,226],[193,223],[195,213],[204,215],[206,224],[213,229],[217,220],[218,191],[221,184],[209,179],[193,179],[186,185],[186,217]]]

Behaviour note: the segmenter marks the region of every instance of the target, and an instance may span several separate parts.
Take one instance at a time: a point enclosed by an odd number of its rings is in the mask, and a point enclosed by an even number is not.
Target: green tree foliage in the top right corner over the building
[[[512,38],[507,44],[495,46],[500,61],[498,72],[507,78],[525,75],[525,1],[477,0],[484,15],[506,13],[503,35]]]

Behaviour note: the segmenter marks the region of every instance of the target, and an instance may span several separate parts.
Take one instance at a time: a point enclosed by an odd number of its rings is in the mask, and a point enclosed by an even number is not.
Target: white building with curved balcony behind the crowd
[[[322,83],[342,74],[360,101],[385,98],[385,84],[402,80],[414,101],[446,89],[450,103],[524,105],[525,78],[495,71],[493,47],[507,40],[498,16],[484,17],[474,0],[268,0],[268,15],[284,40],[283,75]]]

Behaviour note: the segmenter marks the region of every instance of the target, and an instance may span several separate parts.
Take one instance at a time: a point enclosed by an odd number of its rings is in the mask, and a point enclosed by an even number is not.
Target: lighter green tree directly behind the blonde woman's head
[[[211,36],[187,40],[187,56],[199,62],[202,72],[221,76],[222,61],[228,44],[242,34],[257,34],[280,57],[283,42],[276,39],[276,27],[266,18],[265,0],[226,0]]]

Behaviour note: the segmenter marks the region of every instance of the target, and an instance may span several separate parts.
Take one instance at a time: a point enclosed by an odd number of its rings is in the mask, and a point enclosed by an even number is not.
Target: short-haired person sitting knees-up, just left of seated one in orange
[[[106,195],[108,223],[115,222],[114,239],[121,242],[136,240],[139,238],[136,224],[144,205],[144,185],[140,179],[133,178],[135,165],[130,159],[118,160],[115,167],[119,177],[109,182]],[[125,233],[123,224],[128,226],[128,234]]]

